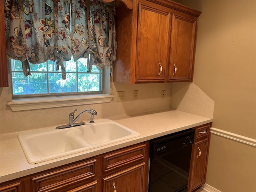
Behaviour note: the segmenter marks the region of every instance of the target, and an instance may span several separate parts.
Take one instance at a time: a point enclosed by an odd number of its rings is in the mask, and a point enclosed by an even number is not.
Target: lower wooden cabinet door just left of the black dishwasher
[[[146,192],[144,164],[134,166],[103,179],[103,192]]]

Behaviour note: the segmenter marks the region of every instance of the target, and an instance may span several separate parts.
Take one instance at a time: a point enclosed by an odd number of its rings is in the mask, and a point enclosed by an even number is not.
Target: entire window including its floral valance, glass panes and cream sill
[[[7,55],[8,58],[15,59],[10,60],[12,101],[8,102],[8,105],[12,111],[111,102],[113,96],[110,95],[110,70],[116,58],[117,48],[114,18],[116,8],[101,1],[90,1],[90,6],[86,3],[88,1],[17,1],[18,4],[12,1],[4,2],[5,24],[8,26]],[[29,10],[26,7],[29,7]],[[86,9],[90,11],[84,11]],[[23,13],[24,18],[15,17],[12,12]],[[57,16],[58,26],[54,21]],[[23,21],[24,25],[20,25]],[[77,30],[79,26],[82,28]],[[88,32],[88,28],[94,29],[92,34]],[[23,41],[23,38],[28,40]],[[40,41],[34,41],[38,38]],[[78,47],[78,44],[82,46]],[[10,45],[18,48],[11,48]],[[37,46],[39,48],[36,48]],[[66,49],[66,46],[69,49]],[[28,52],[20,52],[24,48],[28,49]],[[73,51],[80,52],[79,55],[76,54],[78,58],[89,53],[95,65],[102,68],[106,65],[101,71],[93,66],[92,72],[87,73],[87,59],[81,58],[78,62],[72,59],[63,63],[66,68],[66,80],[62,80],[62,72],[56,71],[54,62],[30,64],[31,76],[25,77],[22,64],[16,61],[19,58],[46,61],[49,56],[53,58],[55,51],[58,54],[61,51],[64,58],[68,56],[66,60],[70,59],[70,53]],[[36,63],[34,60],[33,62]]]

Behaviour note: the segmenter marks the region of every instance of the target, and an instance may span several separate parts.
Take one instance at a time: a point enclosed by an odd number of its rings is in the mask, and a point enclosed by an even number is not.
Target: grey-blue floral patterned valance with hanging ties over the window
[[[29,62],[56,61],[66,78],[63,61],[88,58],[92,65],[112,69],[116,59],[116,8],[96,0],[4,0],[8,58]],[[58,70],[58,69],[57,69]]]

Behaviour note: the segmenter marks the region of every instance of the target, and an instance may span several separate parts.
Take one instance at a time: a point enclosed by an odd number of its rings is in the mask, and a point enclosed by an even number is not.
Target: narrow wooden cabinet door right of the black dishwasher
[[[188,192],[198,188],[204,183],[208,153],[208,138],[193,144]]]

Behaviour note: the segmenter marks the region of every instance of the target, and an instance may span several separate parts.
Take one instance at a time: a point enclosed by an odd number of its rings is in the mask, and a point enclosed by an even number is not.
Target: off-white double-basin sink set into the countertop
[[[18,139],[30,164],[106,146],[140,136],[109,119],[65,129],[42,128],[20,132]]]

